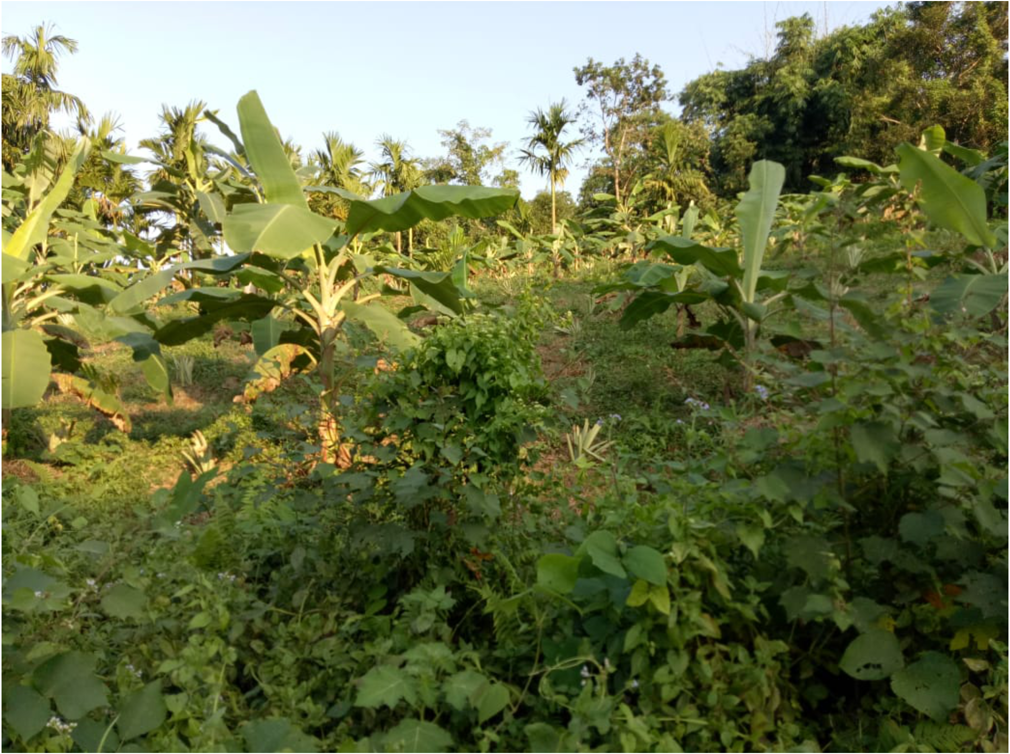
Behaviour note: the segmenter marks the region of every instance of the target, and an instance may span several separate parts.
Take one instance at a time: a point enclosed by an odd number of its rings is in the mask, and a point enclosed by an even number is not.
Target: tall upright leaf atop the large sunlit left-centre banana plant
[[[260,95],[255,90],[238,100],[238,123],[245,154],[263,184],[267,201],[271,204],[291,205],[307,212],[309,205],[305,201],[302,186],[288,155],[284,153],[277,130],[267,117]],[[230,241],[228,245],[237,248]],[[311,244],[305,244],[302,248],[309,245]]]

